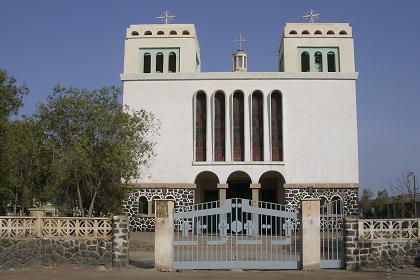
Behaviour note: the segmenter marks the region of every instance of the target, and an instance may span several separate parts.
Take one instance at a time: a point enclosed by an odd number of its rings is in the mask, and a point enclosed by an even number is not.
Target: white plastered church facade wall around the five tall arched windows
[[[221,183],[236,170],[247,172],[253,182],[258,182],[264,172],[277,170],[289,184],[358,183],[356,78],[356,73],[122,75],[124,104],[152,111],[161,122],[157,157],[139,182],[194,183],[197,174],[205,170],[213,171]],[[245,94],[246,161],[212,162],[208,156],[208,162],[194,162],[194,94],[203,90],[209,98],[217,90],[223,90],[229,102],[237,89]],[[265,158],[270,155],[267,99],[273,90],[283,94],[284,161],[281,163],[249,161],[249,96],[257,89],[264,93]],[[209,99],[207,104],[210,105]],[[209,117],[211,107],[207,107]],[[226,121],[230,121],[229,114]],[[227,130],[229,127],[226,124]],[[210,133],[211,127],[207,131]],[[229,133],[226,139],[230,139]],[[230,144],[226,146],[230,149]],[[210,142],[207,149],[207,155],[211,155]]]

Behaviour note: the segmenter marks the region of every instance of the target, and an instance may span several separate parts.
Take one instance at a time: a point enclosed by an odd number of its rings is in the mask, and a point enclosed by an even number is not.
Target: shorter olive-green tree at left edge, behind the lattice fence
[[[3,139],[3,160],[6,176],[5,188],[17,208],[26,209],[50,201],[53,197],[49,189],[50,156],[42,141],[42,130],[31,118],[15,120],[8,124]]]

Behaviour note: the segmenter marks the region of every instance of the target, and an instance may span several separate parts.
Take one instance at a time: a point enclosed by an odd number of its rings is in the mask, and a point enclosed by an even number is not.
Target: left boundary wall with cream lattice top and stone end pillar
[[[126,266],[127,217],[0,217],[0,270],[63,264]]]

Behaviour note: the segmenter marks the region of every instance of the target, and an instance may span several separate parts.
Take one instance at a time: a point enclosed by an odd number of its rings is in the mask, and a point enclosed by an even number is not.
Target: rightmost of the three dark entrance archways
[[[284,204],[286,202],[284,191],[285,182],[280,172],[267,171],[262,174],[259,180],[261,184],[260,200]]]

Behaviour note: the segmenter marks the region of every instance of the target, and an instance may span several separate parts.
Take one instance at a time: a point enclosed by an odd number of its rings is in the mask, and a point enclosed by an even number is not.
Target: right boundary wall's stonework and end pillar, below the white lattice
[[[364,239],[358,219],[345,221],[345,263],[347,269],[364,267],[420,267],[420,238]],[[390,230],[388,230],[390,232]]]

